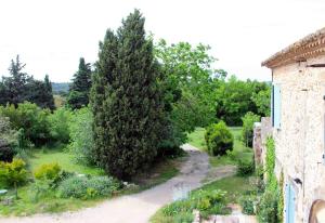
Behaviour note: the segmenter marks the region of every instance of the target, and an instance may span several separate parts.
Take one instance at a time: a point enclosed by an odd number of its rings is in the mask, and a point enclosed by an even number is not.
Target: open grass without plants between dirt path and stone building
[[[194,195],[195,193],[198,193],[198,191],[205,191],[208,193],[211,193],[214,189],[222,189],[225,191],[225,202],[238,202],[242,195],[245,195],[247,192],[252,191],[253,186],[249,184],[249,178],[242,178],[242,176],[229,176],[224,178],[218,181],[214,181],[212,183],[206,184],[203,187],[195,189],[192,192]],[[168,205],[170,207],[170,205]],[[190,206],[191,205],[186,205]],[[192,222],[190,217],[192,215],[192,210],[187,210],[184,207],[184,212],[176,211],[174,215],[166,215],[164,213],[164,208],[159,209],[155,215],[152,217],[151,222],[152,223],[176,223],[176,222]],[[179,207],[180,208],[180,207]],[[180,221],[181,219],[181,221]],[[188,219],[188,220],[187,220]]]

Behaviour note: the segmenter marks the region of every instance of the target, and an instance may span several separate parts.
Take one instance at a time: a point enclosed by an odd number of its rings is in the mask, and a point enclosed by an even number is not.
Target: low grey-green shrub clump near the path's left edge
[[[119,183],[113,178],[72,176],[63,181],[58,186],[58,195],[63,198],[91,199],[99,196],[110,196],[119,188]]]

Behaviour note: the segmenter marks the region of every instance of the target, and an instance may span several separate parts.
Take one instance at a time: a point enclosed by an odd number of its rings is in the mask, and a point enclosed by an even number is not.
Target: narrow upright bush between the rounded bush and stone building
[[[243,120],[243,130],[242,130],[242,141],[246,144],[246,146],[252,146],[252,137],[253,137],[253,123],[259,122],[261,119],[260,116],[248,112],[242,118]]]

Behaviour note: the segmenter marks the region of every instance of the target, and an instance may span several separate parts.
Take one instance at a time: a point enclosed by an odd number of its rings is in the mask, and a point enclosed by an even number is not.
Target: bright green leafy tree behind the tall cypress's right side
[[[213,91],[218,78],[226,74],[211,67],[216,58],[209,55],[209,50],[208,45],[192,47],[187,42],[169,45],[160,40],[156,44],[155,55],[162,64],[170,91],[166,95],[171,101],[172,121],[181,132],[214,120]]]

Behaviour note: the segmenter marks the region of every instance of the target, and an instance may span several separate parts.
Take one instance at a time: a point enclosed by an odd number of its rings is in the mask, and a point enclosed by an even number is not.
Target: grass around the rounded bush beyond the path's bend
[[[210,156],[210,165],[212,167],[220,167],[225,165],[236,165],[237,159],[250,160],[253,156],[252,149],[246,147],[240,141],[242,127],[231,127],[231,132],[234,135],[234,156],[221,156],[214,157]],[[205,142],[205,129],[197,128],[194,132],[188,135],[188,144],[202,149],[207,150],[206,142]]]

